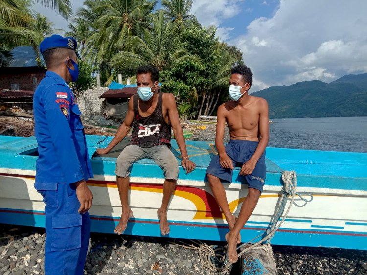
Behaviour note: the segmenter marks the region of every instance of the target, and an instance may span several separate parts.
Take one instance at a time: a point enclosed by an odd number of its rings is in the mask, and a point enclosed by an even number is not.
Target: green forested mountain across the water
[[[357,77],[357,85],[364,77],[366,81],[366,75]],[[367,89],[352,82],[298,82],[273,86],[252,95],[268,101],[271,118],[367,116]]]

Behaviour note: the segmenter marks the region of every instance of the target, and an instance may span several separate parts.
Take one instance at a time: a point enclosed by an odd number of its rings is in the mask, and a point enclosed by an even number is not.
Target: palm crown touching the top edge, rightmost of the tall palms
[[[191,27],[201,27],[195,15],[189,14],[194,0],[162,0],[167,18],[176,26],[177,31]]]

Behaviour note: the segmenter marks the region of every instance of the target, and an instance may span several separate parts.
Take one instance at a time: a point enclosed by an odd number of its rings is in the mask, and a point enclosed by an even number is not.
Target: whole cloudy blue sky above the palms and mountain
[[[72,0],[73,10],[83,1]],[[34,9],[67,29],[56,12]],[[366,0],[195,0],[191,13],[243,52],[255,92],[367,72],[366,11]]]

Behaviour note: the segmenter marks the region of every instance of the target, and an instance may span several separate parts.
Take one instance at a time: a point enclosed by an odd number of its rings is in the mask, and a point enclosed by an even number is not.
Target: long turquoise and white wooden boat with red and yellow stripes
[[[111,139],[87,135],[90,156]],[[94,178],[88,184],[94,194],[90,209],[94,232],[113,233],[121,216],[114,171],[116,158],[127,143],[122,141],[110,154],[91,160]],[[205,177],[216,154],[215,145],[203,141],[186,144],[197,168],[186,175],[180,167],[168,210],[169,237],[224,241],[229,229]],[[180,160],[175,140],[172,146]],[[0,155],[0,223],[44,227],[45,205],[33,187],[36,139],[0,136]],[[266,156],[264,192],[241,231],[242,241],[265,233],[282,194],[281,172],[295,170],[296,191],[308,199],[312,195],[313,200],[305,202],[296,196],[272,244],[367,250],[367,153],[267,148]],[[237,214],[248,191],[247,185],[238,181],[238,172],[236,168],[233,183],[224,183],[230,208]],[[124,234],[161,236],[157,208],[163,180],[162,170],[153,161],[144,159],[133,165],[130,201],[134,217]]]

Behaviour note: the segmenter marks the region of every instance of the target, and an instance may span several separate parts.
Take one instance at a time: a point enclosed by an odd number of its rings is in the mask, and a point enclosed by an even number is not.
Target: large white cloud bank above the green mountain
[[[230,44],[259,83],[330,82],[367,72],[366,10],[365,0],[281,0],[273,17],[252,21]]]

